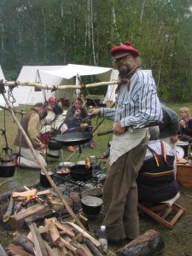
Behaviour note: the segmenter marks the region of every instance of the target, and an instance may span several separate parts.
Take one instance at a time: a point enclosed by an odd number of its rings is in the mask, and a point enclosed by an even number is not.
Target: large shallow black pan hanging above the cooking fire
[[[77,146],[89,143],[93,134],[91,132],[71,132],[54,137],[56,142],[62,143],[65,146]]]

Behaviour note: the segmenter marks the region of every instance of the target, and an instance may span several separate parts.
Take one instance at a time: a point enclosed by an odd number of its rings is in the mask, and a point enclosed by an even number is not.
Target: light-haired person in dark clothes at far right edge
[[[190,116],[190,109],[180,108],[181,120],[179,121],[179,136],[178,139],[184,142],[192,142],[192,117]]]

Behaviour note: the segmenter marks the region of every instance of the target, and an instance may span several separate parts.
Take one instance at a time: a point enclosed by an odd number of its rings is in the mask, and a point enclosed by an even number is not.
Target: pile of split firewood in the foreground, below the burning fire
[[[43,225],[28,225],[27,236],[15,232],[13,243],[5,248],[9,255],[65,256],[106,255],[100,241],[73,222],[60,223],[57,218],[45,218]],[[108,255],[114,255],[109,253]]]

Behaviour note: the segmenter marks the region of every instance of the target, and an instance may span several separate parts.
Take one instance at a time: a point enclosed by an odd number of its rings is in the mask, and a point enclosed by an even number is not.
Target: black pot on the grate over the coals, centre
[[[85,165],[75,165],[70,167],[71,177],[74,180],[86,181],[92,177],[93,167],[85,168]]]

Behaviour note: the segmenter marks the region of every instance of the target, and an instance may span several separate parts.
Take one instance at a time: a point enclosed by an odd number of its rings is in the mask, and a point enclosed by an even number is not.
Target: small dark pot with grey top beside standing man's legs
[[[82,210],[87,215],[99,214],[102,209],[103,201],[96,196],[84,196],[81,199]]]

